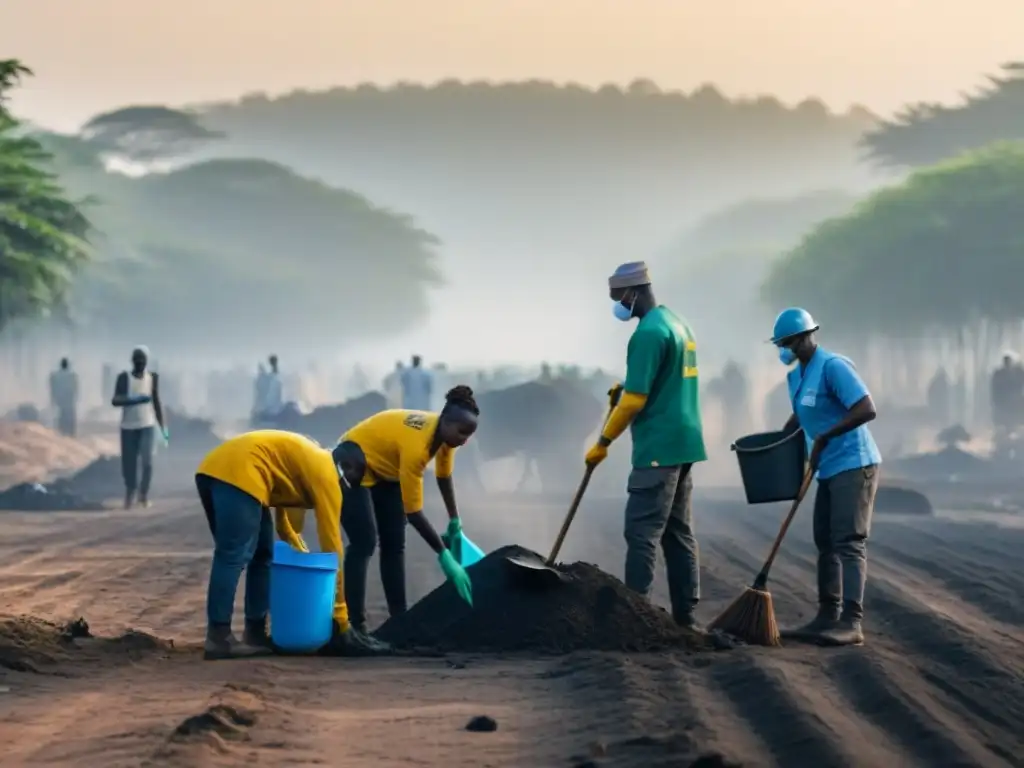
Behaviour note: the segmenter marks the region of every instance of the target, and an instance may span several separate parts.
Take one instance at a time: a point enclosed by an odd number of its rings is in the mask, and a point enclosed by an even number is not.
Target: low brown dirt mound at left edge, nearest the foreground
[[[42,674],[46,668],[82,657],[90,662],[136,660],[174,643],[129,630],[118,637],[93,637],[82,617],[55,624],[35,616],[0,616],[0,669]]]

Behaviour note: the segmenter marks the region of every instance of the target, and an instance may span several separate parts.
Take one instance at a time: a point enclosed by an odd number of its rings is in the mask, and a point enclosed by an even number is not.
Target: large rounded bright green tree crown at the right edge
[[[1021,143],[918,171],[818,225],[775,264],[764,295],[864,337],[1020,321],[1022,200]]]

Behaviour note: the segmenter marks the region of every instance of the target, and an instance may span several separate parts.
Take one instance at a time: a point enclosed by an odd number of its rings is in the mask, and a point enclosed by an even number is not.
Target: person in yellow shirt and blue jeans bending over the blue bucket
[[[321,549],[342,555],[342,486],[358,488],[366,460],[356,445],[334,451],[293,432],[258,430],[225,440],[196,471],[196,488],[213,534],[207,592],[204,656],[237,658],[272,651],[267,634],[273,522],[270,507],[312,509]],[[246,569],[245,633],[231,633],[231,613]],[[354,631],[348,621],[342,569],[334,608],[332,651],[343,655],[388,652],[384,643]]]

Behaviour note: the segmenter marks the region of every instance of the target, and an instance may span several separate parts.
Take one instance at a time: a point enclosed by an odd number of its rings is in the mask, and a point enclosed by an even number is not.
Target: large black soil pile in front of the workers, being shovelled
[[[467,570],[473,606],[443,584],[375,634],[399,649],[440,652],[573,650],[709,650],[712,641],[686,632],[667,611],[589,563],[558,566],[561,583],[530,589],[514,578],[503,547]]]

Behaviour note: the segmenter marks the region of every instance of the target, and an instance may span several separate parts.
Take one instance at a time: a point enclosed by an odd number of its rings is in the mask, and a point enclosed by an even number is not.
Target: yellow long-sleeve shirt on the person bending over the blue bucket
[[[275,519],[285,510],[316,515],[321,550],[343,556],[341,540],[342,493],[338,469],[331,452],[312,440],[273,429],[246,432],[220,443],[207,454],[196,470],[249,494],[264,507],[276,509]],[[282,537],[293,547],[294,541]],[[301,539],[299,548],[305,549]],[[342,630],[348,628],[343,569],[338,568],[334,617]]]

